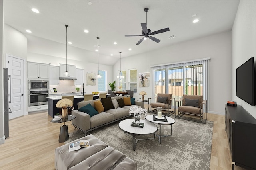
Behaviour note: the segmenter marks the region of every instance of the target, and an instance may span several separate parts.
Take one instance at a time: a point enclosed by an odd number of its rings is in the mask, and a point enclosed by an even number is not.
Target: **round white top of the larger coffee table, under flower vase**
[[[157,132],[157,126],[154,123],[150,123],[149,121],[146,120],[140,120],[141,123],[144,123],[144,127],[134,127],[131,126],[132,122],[134,119],[125,119],[123,121],[120,121],[119,123],[119,128],[130,134],[134,135],[146,135],[146,134],[151,134],[151,133],[156,133]]]

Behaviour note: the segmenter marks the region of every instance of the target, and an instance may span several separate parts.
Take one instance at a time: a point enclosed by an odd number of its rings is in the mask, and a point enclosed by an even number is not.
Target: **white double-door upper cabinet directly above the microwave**
[[[50,64],[28,62],[28,78],[49,79]]]

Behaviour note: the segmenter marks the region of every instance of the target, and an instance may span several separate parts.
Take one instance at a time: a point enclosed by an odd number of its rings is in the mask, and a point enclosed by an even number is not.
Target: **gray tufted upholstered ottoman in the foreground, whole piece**
[[[70,143],[89,140],[90,147],[68,152]],[[136,170],[137,164],[93,135],[88,135],[55,149],[56,170]]]

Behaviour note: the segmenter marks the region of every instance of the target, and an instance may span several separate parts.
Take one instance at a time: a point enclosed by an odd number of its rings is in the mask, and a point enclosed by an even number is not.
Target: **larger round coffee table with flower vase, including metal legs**
[[[157,126],[154,123],[150,123],[146,120],[140,120],[141,123],[144,123],[144,127],[133,127],[131,126],[134,119],[125,119],[120,121],[119,128],[124,131],[124,133],[130,137],[132,137],[133,143],[133,150],[135,151],[137,142],[139,140],[146,140],[146,139],[155,139],[155,133],[157,132]],[[145,139],[136,139],[135,136],[138,135],[149,135],[154,134],[154,138],[145,138]]]

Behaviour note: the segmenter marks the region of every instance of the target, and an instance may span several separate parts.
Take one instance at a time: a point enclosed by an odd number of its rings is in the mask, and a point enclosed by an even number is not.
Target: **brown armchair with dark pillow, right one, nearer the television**
[[[205,113],[204,113],[205,111]],[[184,114],[196,115],[200,117],[200,123],[206,123],[206,100],[203,100],[203,96],[200,95],[183,95],[182,105],[178,107],[178,115],[175,113],[175,117],[180,118]],[[205,115],[205,119],[204,119]],[[196,121],[192,118],[188,120]]]

